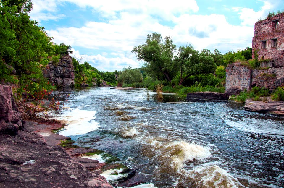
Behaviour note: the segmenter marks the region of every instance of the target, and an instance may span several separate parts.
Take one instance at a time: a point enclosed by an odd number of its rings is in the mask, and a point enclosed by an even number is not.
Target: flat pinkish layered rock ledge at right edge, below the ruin
[[[247,99],[244,108],[246,111],[250,112],[269,112],[284,115],[284,102],[272,101],[270,97],[267,97],[267,101],[254,101],[253,99]]]

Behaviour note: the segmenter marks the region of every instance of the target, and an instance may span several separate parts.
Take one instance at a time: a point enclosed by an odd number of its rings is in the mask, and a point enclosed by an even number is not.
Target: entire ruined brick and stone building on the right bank
[[[270,90],[284,86],[284,13],[261,20],[254,25],[252,54],[257,51],[260,69],[250,69],[240,62],[226,68],[226,91],[232,88],[251,90],[266,87]]]

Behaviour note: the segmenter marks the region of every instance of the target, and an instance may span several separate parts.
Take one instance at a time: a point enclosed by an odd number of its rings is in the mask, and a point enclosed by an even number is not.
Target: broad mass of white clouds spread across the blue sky
[[[143,43],[146,35],[152,32],[161,33],[162,36],[171,35],[178,47],[191,44],[199,51],[203,48],[211,50],[217,48],[224,53],[251,46],[254,22],[260,14],[265,14],[272,6],[270,2],[265,1],[258,12],[253,9],[233,7],[230,11],[238,12],[240,19],[243,20],[242,25],[237,26],[229,24],[225,15],[193,14],[199,10],[195,0],[176,0],[174,3],[162,0],[48,1],[50,5],[48,7],[43,4],[46,1],[36,1],[34,12],[31,13],[33,17],[37,16],[40,20],[59,19],[64,15],[56,14],[58,9],[56,4],[69,2],[80,8],[91,9],[106,18],[105,22],[87,21],[82,27],[59,27],[47,30],[56,43],[64,42],[77,49],[87,48],[89,55],[80,55],[78,50],[74,50],[74,55],[83,57],[83,62],[88,61],[102,71],[121,70],[128,66],[139,67],[139,62],[135,60],[131,50],[134,46]],[[170,26],[162,25],[161,20],[170,21]]]

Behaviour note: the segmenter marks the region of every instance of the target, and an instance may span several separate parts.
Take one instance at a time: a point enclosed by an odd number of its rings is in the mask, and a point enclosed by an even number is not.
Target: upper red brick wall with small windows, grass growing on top
[[[284,67],[284,13],[255,23],[252,49],[259,60],[274,59],[271,67]]]

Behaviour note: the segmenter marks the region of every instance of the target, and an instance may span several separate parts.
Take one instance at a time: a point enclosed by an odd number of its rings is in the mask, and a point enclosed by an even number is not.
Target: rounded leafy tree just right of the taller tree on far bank
[[[216,64],[211,56],[205,53],[199,54],[192,46],[181,46],[174,61],[180,69],[179,85],[182,85],[184,80],[190,76],[213,73],[216,69]]]

